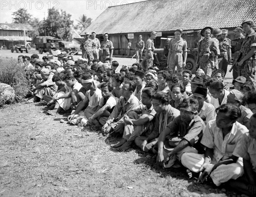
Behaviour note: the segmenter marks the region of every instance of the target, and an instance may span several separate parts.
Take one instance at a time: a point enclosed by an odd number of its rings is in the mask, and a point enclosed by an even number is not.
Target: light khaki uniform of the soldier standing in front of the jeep
[[[187,51],[186,40],[181,38],[180,40],[172,39],[169,44],[169,54],[168,54],[168,65],[172,68],[172,72],[175,73],[175,67],[177,66],[177,71],[182,70],[183,64],[183,52]]]

